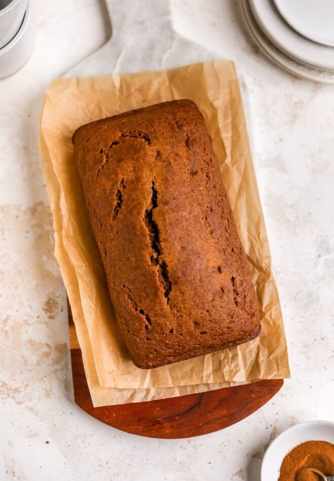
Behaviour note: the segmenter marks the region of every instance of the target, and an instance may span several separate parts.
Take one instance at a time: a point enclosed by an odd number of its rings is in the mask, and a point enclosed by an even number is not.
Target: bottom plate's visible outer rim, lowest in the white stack
[[[299,75],[316,82],[334,84],[334,72],[312,68],[308,65],[299,63],[297,60],[287,57],[284,52],[273,46],[269,39],[264,37],[264,33],[262,31],[258,31],[258,27],[255,25],[252,19],[253,14],[250,10],[248,0],[240,0],[240,7],[241,15],[249,34],[254,39],[255,43],[262,49],[265,55],[267,55],[267,57],[269,57],[270,60],[272,60],[276,65],[282,67],[289,73],[294,73],[295,75]]]

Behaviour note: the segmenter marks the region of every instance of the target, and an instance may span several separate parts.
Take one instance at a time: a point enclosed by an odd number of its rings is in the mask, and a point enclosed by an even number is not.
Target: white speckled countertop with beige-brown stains
[[[38,152],[46,87],[100,48],[111,27],[102,0],[34,6],[32,57],[0,80],[0,480],[257,481],[279,432],[334,418],[334,87],[267,61],[240,25],[237,2],[173,0],[175,29],[233,59],[245,86],[292,378],[222,431],[185,440],[126,434],[73,403],[66,299]],[[137,34],[140,49],[145,28]]]

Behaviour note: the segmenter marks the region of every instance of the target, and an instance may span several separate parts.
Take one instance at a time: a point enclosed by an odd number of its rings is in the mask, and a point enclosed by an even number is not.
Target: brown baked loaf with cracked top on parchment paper
[[[255,338],[255,289],[196,104],[165,102],[92,122],[73,143],[135,365],[163,366]]]

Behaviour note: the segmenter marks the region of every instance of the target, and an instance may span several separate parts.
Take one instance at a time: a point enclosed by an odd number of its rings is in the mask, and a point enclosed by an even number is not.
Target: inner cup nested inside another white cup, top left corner
[[[0,49],[5,47],[19,31],[27,3],[28,0],[12,0],[0,10]]]

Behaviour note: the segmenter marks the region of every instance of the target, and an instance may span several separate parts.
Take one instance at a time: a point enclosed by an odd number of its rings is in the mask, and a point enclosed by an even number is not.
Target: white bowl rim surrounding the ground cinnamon
[[[334,423],[309,421],[296,424],[277,436],[267,449],[261,465],[261,481],[277,481],[284,457],[306,441],[327,441],[334,444]]]

